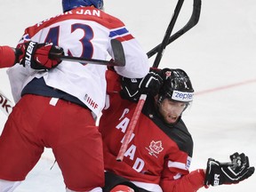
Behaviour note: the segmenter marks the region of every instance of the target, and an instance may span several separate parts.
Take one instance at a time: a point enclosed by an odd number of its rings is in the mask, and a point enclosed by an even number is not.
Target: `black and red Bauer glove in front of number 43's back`
[[[16,48],[16,62],[25,68],[51,69],[56,68],[61,60],[49,57],[49,53],[61,55],[63,49],[53,44],[37,44],[29,41],[19,44]]]

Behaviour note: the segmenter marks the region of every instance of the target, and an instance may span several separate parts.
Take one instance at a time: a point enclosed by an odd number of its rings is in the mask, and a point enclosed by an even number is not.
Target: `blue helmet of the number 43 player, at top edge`
[[[68,12],[81,6],[94,6],[97,9],[103,10],[103,5],[103,0],[62,0],[63,12]]]

